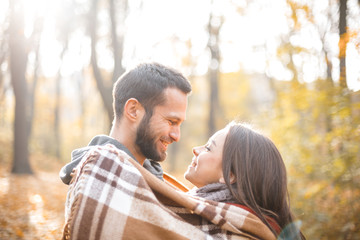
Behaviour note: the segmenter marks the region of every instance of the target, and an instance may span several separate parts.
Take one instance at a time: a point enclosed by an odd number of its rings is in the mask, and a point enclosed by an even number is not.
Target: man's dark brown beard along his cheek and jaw
[[[152,114],[146,113],[136,131],[135,144],[141,153],[147,158],[156,162],[164,161],[166,153],[160,153],[156,149],[155,136],[153,135],[150,119]]]

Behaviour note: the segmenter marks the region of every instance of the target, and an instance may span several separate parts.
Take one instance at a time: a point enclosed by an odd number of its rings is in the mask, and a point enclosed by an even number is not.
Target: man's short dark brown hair
[[[137,99],[147,114],[163,103],[164,90],[177,88],[185,94],[191,92],[190,82],[175,69],[159,63],[143,63],[125,72],[113,89],[113,109],[117,119],[123,114],[124,105],[130,98]]]

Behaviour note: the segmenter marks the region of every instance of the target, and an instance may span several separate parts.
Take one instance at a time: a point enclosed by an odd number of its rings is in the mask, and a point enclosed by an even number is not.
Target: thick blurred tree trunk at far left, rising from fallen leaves
[[[19,1],[10,1],[10,73],[15,95],[14,158],[12,173],[32,174],[28,151],[27,82],[25,78],[27,52],[25,48],[24,18]]]

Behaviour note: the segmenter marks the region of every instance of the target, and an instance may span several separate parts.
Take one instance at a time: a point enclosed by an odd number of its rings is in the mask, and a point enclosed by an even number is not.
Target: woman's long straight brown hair
[[[232,195],[251,208],[277,236],[267,217],[276,220],[285,239],[305,239],[292,222],[286,168],[274,143],[248,125],[231,122],[223,150],[223,175]],[[235,182],[230,176],[235,177]]]

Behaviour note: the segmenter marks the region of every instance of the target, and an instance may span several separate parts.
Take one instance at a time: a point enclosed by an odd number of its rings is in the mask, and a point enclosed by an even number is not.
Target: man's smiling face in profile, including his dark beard
[[[180,125],[186,118],[187,95],[176,88],[164,90],[165,102],[155,106],[153,115],[145,114],[135,143],[148,159],[163,161],[169,144],[180,139]]]

